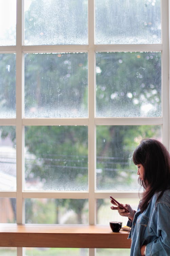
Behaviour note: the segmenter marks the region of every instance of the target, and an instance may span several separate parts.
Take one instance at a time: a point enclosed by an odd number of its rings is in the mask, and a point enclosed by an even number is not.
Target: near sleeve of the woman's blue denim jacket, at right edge
[[[170,203],[158,203],[152,213],[150,232],[157,237],[147,244],[146,256],[170,255]]]

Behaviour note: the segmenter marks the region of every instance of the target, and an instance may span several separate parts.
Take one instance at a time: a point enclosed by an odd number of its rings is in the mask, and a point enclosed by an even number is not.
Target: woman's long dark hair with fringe
[[[138,179],[140,185],[145,188],[139,204],[143,212],[156,192],[160,192],[158,200],[164,191],[170,188],[170,154],[161,142],[145,139],[135,149],[133,162],[144,167],[143,180],[140,177]]]

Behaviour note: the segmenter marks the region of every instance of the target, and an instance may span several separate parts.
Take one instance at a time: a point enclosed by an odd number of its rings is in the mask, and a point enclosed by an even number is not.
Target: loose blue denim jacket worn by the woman
[[[157,196],[143,213],[140,209],[135,213],[128,237],[132,239],[130,256],[141,256],[142,245],[147,245],[146,256],[170,256],[170,189],[156,203]]]

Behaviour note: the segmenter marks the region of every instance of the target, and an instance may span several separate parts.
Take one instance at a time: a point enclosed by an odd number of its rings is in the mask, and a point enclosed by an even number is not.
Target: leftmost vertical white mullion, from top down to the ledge
[[[16,218],[17,224],[23,223],[22,201],[22,0],[17,0],[17,26],[16,26],[16,167],[17,167],[17,196]]]

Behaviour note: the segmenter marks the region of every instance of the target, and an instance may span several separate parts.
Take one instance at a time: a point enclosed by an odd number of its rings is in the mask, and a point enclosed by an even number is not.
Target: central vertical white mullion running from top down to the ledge
[[[95,127],[95,9],[94,0],[88,1],[88,179],[89,179],[89,224],[95,224],[95,170],[96,170],[96,127]]]

